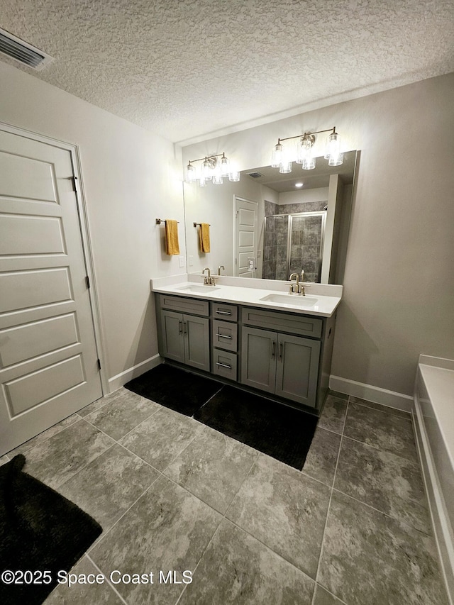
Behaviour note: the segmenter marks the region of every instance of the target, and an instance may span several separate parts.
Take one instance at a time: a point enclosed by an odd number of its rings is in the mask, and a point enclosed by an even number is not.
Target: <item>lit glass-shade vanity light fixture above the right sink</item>
[[[321,133],[330,133],[326,139],[325,160],[328,160],[328,166],[340,166],[343,162],[343,152],[341,152],[341,138],[336,133],[336,126],[328,128],[326,131],[317,131],[315,133],[304,133],[292,137],[278,138],[277,145],[272,150],[271,165],[273,168],[279,168],[279,172],[292,172],[292,162],[301,164],[303,170],[312,170],[315,168],[315,157],[313,155],[313,146],[316,140],[315,135]],[[299,138],[297,143],[297,157],[292,158],[283,140]]]

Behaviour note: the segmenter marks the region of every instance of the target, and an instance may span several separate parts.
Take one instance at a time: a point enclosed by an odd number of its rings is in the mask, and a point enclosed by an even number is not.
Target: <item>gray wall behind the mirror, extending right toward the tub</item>
[[[453,97],[448,74],[183,149],[247,170],[278,137],[336,126],[361,151],[334,375],[411,395],[419,353],[454,358]]]

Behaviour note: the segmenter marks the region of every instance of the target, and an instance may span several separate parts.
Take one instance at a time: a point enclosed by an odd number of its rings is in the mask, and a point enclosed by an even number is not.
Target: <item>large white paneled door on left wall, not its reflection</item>
[[[73,177],[0,126],[0,455],[102,395]]]

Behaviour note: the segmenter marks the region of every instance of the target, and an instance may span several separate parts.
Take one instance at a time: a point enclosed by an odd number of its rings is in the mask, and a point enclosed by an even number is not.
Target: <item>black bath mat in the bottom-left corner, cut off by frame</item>
[[[69,571],[102,532],[78,506],[22,472],[25,462],[19,454],[0,467],[0,573],[7,570],[0,581],[2,605],[43,603],[57,573]],[[9,572],[23,583],[8,584]]]

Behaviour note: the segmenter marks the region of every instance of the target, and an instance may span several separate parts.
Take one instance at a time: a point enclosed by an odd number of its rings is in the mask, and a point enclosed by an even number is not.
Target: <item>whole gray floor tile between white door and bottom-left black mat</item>
[[[94,426],[79,420],[28,450],[24,470],[56,489],[114,443]]]

